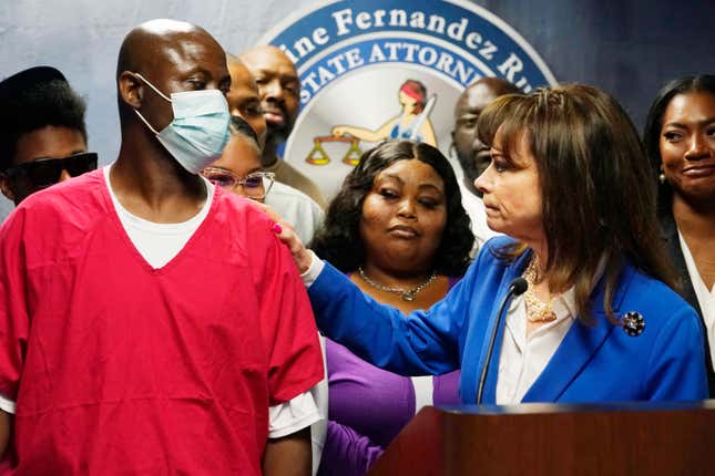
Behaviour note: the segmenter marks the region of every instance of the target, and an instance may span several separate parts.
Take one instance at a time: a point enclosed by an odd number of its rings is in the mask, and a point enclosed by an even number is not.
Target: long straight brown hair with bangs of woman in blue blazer
[[[492,144],[500,131],[504,155],[524,136],[543,194],[543,228],[552,291],[574,287],[579,317],[589,322],[593,277],[604,260],[603,307],[612,302],[625,262],[672,284],[655,220],[655,188],[633,123],[609,94],[565,84],[529,95],[507,95],[489,105],[477,125]],[[499,251],[513,260],[527,250]]]

